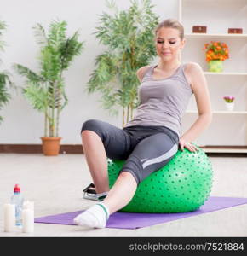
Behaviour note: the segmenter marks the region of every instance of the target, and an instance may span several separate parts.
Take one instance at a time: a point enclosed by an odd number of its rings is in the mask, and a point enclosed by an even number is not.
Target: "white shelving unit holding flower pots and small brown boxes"
[[[247,153],[247,0],[179,0],[179,20],[185,28],[187,39],[181,59],[184,62],[198,62],[203,67],[211,95],[213,122],[216,119],[217,125],[221,125],[219,119],[227,119],[229,123],[227,127],[222,126],[221,131],[218,130],[221,136],[217,136],[217,131],[211,131],[211,134],[207,134],[208,137],[204,138],[204,143],[199,146],[205,146],[204,150],[211,153]],[[207,32],[192,33],[192,26],[207,26]],[[230,27],[241,27],[243,33],[228,34],[227,29]],[[227,65],[222,73],[207,71],[205,53],[202,49],[204,44],[210,41],[223,41],[229,46],[230,59],[225,61]],[[239,104],[236,110],[221,110],[223,106],[221,96],[227,94],[238,96]],[[237,96],[236,100],[238,100]],[[187,116],[196,113],[198,112],[195,104],[189,106]],[[235,121],[236,118],[241,122]],[[241,138],[238,137],[238,142],[233,143],[234,138],[225,131],[226,139],[223,141],[224,129],[227,130],[236,123],[241,123],[241,129],[237,126],[235,128],[242,132],[239,135],[239,132],[235,131],[235,134]],[[222,140],[220,143],[218,143],[219,137]],[[215,142],[212,143],[214,138]],[[232,139],[233,146],[226,143],[229,139]],[[212,147],[210,148],[209,145]]]

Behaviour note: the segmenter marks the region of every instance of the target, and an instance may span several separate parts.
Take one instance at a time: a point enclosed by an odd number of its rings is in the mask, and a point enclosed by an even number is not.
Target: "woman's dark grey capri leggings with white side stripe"
[[[83,123],[82,132],[85,130],[101,137],[108,158],[126,160],[120,172],[130,172],[137,184],[167,164],[178,150],[178,135],[165,126],[134,125],[119,129],[89,119]]]

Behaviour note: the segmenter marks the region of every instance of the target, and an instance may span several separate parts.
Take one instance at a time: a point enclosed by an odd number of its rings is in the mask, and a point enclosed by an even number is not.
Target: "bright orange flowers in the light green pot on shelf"
[[[211,41],[210,44],[204,44],[204,50],[206,53],[206,61],[225,61],[229,59],[229,49],[227,44]]]

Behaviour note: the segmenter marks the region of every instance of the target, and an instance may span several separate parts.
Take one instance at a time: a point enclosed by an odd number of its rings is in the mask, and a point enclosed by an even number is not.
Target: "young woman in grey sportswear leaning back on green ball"
[[[194,62],[181,63],[185,45],[184,29],[177,20],[161,22],[155,31],[158,65],[141,67],[137,77],[140,104],[135,118],[124,129],[100,120],[83,124],[83,151],[104,201],[74,218],[87,228],[104,228],[110,214],[126,206],[138,184],[164,166],[178,148],[195,152],[191,143],[210,124],[210,96],[202,68]],[[198,119],[181,134],[181,117],[194,94]],[[106,158],[126,160],[116,183],[109,191]]]

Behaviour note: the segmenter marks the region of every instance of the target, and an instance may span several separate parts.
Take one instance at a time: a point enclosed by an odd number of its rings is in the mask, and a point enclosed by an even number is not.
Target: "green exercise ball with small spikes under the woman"
[[[124,160],[108,160],[110,187]],[[212,187],[212,166],[204,151],[178,150],[169,163],[144,179],[123,212],[191,212],[204,204]]]

